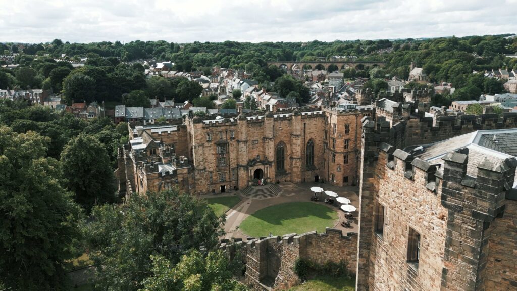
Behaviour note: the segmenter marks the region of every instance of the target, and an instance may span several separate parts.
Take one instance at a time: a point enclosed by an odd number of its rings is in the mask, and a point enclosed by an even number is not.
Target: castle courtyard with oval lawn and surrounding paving
[[[251,198],[240,191],[224,195],[204,195],[212,209],[224,210],[216,202],[221,199],[227,205],[225,235],[222,239],[243,239],[250,237],[265,237],[269,234],[282,236],[285,234],[302,234],[317,230],[325,231],[325,227],[339,229],[346,235],[347,232],[358,232],[358,211],[350,227],[343,227],[341,222],[347,221],[344,212],[339,209],[341,203],[329,205],[323,202],[325,194],[321,193],[320,202],[311,201],[313,193],[310,187],[319,186],[324,190],[336,192],[341,197],[351,200],[351,205],[359,208],[357,187],[339,187],[320,183],[280,183],[282,192],[274,197]],[[234,197],[234,198],[224,198]],[[236,202],[236,198],[240,201]],[[227,201],[231,201],[228,203]],[[213,203],[212,203],[213,202]],[[236,204],[234,204],[236,203]],[[233,205],[233,206],[232,206]],[[218,214],[220,214],[219,212]]]

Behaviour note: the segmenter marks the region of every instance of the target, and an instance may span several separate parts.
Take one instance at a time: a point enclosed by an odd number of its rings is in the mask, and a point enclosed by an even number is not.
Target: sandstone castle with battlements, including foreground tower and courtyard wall
[[[131,142],[119,150],[120,190],[357,183],[358,234],[223,242],[229,253],[245,250],[246,282],[257,290],[295,282],[297,258],[346,259],[358,291],[517,288],[517,113],[431,114],[427,89],[358,96],[372,105],[131,124]]]

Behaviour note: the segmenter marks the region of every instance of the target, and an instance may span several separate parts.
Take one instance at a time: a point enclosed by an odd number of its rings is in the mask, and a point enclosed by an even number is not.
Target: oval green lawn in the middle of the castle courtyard
[[[313,202],[290,202],[273,205],[248,216],[239,226],[251,237],[265,237],[271,232],[275,236],[303,234],[317,230],[324,232],[338,219],[336,210]]]

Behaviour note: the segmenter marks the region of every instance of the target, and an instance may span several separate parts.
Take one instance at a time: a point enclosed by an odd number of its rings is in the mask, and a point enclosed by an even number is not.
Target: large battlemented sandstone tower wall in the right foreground
[[[517,159],[486,158],[474,178],[468,149],[440,166],[385,143],[376,122],[363,128],[356,290],[515,288]],[[418,260],[408,262],[415,232]]]

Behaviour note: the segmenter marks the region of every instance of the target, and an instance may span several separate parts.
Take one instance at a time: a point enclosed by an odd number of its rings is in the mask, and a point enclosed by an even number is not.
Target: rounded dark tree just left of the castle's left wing
[[[73,138],[61,153],[64,177],[75,199],[87,210],[115,200],[115,178],[102,143],[89,135]]]

